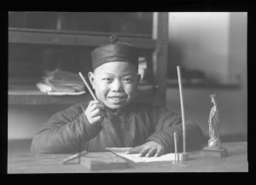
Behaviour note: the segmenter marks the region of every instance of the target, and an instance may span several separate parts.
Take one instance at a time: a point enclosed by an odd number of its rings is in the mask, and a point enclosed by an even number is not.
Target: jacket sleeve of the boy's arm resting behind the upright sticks
[[[166,152],[174,152],[174,132],[177,132],[177,152],[183,152],[183,125],[182,118],[171,110],[160,107],[152,109],[152,126],[154,133],[148,137],[148,141],[160,143],[166,148]],[[201,128],[192,121],[185,121],[186,150],[201,148],[204,136]]]

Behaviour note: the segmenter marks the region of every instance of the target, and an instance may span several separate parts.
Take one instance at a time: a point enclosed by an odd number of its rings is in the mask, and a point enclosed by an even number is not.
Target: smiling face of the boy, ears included
[[[111,109],[125,107],[137,94],[140,75],[136,66],[129,62],[105,63],[89,72],[88,76],[97,99]]]

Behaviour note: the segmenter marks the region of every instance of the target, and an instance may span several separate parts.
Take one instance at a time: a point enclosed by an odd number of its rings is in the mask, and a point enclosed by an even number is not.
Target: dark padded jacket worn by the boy
[[[149,103],[131,103],[113,112],[106,110],[102,124],[89,124],[84,111],[87,103],[75,104],[55,113],[32,140],[32,153],[75,153],[82,150],[104,151],[106,147],[136,147],[148,141],[160,143],[166,152],[183,152],[182,119],[177,113]],[[186,122],[187,150],[200,148],[200,127]]]

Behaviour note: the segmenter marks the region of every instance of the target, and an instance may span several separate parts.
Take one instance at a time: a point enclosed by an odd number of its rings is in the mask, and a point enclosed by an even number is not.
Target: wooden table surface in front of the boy
[[[89,171],[79,164],[62,165],[61,161],[70,154],[9,154],[8,173],[247,172],[247,142],[227,142],[222,146],[229,152],[226,158],[203,157],[200,151],[195,151],[189,153],[187,161],[141,164],[129,161],[130,168],[106,171]]]

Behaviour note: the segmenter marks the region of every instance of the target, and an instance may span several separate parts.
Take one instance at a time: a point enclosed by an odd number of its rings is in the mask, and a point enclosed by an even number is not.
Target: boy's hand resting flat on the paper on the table
[[[132,147],[129,151],[126,152],[127,154],[131,153],[140,153],[140,157],[159,157],[161,154],[165,153],[165,148],[162,147],[157,142],[146,142],[143,145]]]

